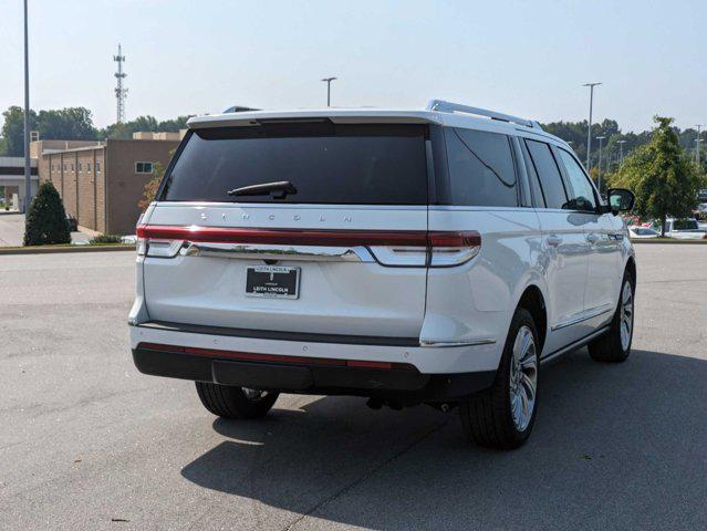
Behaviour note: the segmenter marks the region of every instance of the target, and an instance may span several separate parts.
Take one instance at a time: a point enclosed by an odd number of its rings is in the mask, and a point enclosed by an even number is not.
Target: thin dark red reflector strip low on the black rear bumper
[[[137,345],[137,347],[147,348],[150,351],[174,352],[176,354],[196,354],[209,357],[226,357],[229,360],[241,360],[245,362],[275,362],[292,363],[299,365],[326,365],[339,367],[363,367],[383,369],[415,369],[413,365],[407,363],[373,362],[364,360],[335,360],[331,357],[284,356],[280,354],[260,354],[254,352],[220,351],[217,348],[197,348],[194,346],[164,345],[162,343],[141,343]]]

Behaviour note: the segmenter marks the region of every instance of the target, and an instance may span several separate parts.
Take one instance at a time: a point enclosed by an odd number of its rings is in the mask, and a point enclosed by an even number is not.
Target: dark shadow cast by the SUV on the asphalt
[[[581,350],[541,378],[512,452],[469,446],[454,414],[326,397],[216,420],[229,440],[181,473],[292,511],[294,529],[707,529],[707,361],[634,351],[605,365]]]

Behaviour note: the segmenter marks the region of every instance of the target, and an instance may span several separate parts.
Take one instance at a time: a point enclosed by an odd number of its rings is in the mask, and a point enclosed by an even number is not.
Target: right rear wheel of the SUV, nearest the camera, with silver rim
[[[532,315],[519,308],[493,384],[459,404],[469,440],[503,450],[526,442],[538,410],[539,345]]]

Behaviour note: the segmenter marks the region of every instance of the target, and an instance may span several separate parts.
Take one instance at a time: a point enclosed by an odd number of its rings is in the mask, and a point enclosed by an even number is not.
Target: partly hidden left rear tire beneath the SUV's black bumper
[[[279,396],[278,393],[207,382],[196,382],[196,387],[204,407],[223,418],[264,417]]]

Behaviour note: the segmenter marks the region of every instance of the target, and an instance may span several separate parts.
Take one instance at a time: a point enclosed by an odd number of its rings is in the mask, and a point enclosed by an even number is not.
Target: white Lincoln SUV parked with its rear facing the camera
[[[537,123],[441,101],[191,118],[137,228],[135,365],[222,417],[355,395],[516,448],[541,363],[628,355],[634,199],[609,198]]]

